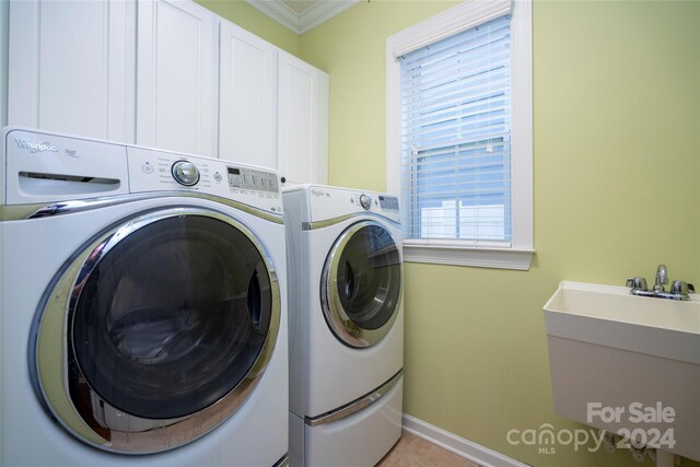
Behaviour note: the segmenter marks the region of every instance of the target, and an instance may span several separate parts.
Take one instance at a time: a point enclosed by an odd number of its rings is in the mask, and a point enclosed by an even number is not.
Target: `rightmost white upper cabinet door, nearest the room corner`
[[[280,51],[278,168],[287,184],[328,179],[328,75]]]

